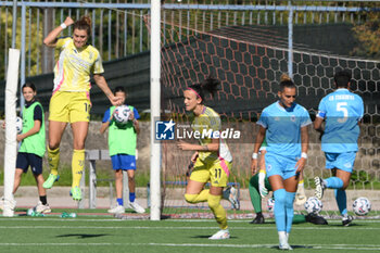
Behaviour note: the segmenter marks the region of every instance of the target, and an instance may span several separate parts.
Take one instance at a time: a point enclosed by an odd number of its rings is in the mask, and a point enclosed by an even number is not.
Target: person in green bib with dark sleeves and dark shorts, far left
[[[16,160],[13,194],[20,187],[23,173],[27,173],[28,167],[30,167],[39,194],[39,201],[35,211],[38,213],[50,213],[51,208],[47,202],[46,189],[42,187],[45,182],[42,177],[42,157],[46,151],[43,107],[35,98],[37,90],[33,83],[26,83],[22,88],[22,92],[25,99],[25,106],[23,107],[23,131],[17,135],[17,141],[21,141],[21,147]]]

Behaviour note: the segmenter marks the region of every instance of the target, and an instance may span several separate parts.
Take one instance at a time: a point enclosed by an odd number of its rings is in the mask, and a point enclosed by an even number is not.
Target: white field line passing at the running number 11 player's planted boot
[[[143,227],[143,226],[123,226],[123,227],[102,227],[102,226],[0,226],[0,229],[149,229],[149,230],[215,230],[218,227]],[[252,230],[252,227],[230,227],[230,230]],[[273,230],[274,227],[255,227],[254,230]],[[293,230],[380,230],[380,228],[356,228],[356,227],[293,227]]]

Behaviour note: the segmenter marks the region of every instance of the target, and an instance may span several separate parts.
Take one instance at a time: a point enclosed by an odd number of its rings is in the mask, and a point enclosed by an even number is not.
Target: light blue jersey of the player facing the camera
[[[266,128],[267,152],[287,157],[301,156],[301,127],[312,124],[308,112],[293,103],[289,109],[275,102],[263,110],[257,122]]]

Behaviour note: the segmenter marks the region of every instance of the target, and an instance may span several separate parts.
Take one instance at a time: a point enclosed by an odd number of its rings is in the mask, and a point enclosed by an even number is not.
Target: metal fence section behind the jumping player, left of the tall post
[[[135,3],[80,3],[80,2],[20,2],[17,3],[17,48],[21,48],[26,76],[52,71],[54,52],[42,46],[43,37],[59,26],[66,16],[78,20],[89,15],[92,22],[90,42],[99,49],[104,61],[111,61],[149,50],[149,35],[143,24],[143,15],[149,4]],[[12,2],[0,2],[0,34],[4,53],[1,64],[8,62],[8,48],[11,45]],[[62,36],[71,36],[68,27]],[[23,67],[22,67],[23,68]],[[4,76],[5,67],[1,69]]]

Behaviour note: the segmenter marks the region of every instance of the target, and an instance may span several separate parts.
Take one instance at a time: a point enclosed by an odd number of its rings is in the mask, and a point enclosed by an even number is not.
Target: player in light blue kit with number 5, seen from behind
[[[356,157],[359,124],[364,114],[363,100],[359,96],[350,92],[350,81],[349,71],[335,73],[337,90],[320,101],[314,122],[314,128],[322,135],[321,149],[326,156],[326,168],[332,169],[334,175],[327,179],[315,178],[315,195],[321,199],[326,188],[334,189],[343,226],[349,226],[353,220],[353,217],[347,215],[345,189],[350,184]]]

